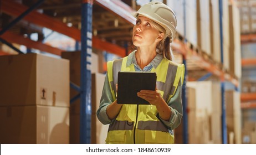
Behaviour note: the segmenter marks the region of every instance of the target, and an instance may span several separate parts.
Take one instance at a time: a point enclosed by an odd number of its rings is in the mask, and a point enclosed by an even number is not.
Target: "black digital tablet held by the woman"
[[[155,89],[156,73],[119,71],[117,79],[117,104],[147,105],[149,102],[138,97],[137,92]]]

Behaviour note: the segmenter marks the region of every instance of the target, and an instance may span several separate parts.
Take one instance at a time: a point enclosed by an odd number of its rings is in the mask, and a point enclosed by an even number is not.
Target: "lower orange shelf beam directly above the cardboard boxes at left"
[[[35,42],[29,38],[24,38],[22,35],[17,35],[9,31],[5,32],[1,37],[11,43],[17,43],[27,46],[27,48],[39,49],[55,55],[61,55],[63,52],[61,49],[54,48],[53,46],[43,44],[41,42]]]

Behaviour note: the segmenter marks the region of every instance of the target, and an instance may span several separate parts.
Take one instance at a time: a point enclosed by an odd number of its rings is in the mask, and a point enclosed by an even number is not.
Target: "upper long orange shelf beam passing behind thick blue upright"
[[[27,6],[13,1],[4,0],[1,1],[1,4],[2,11],[11,16],[19,16],[21,13],[28,9]],[[41,27],[52,29],[56,32],[74,38],[75,40],[81,41],[81,31],[79,29],[68,27],[65,23],[60,22],[59,20],[52,17],[46,16],[45,14],[40,14],[37,11],[32,11],[31,13],[27,14],[27,16],[24,17],[24,20],[40,25]],[[93,47],[100,50],[109,51],[109,53],[117,54],[119,56],[125,56],[126,53],[124,48],[109,42],[105,42],[94,36]]]

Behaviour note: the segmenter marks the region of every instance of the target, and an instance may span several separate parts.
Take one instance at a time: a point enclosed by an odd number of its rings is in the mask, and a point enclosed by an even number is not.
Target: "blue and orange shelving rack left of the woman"
[[[109,53],[117,54],[119,56],[125,56],[126,55],[126,49],[111,44],[108,42],[105,42],[103,40],[100,40],[97,37],[94,37],[91,32],[92,27],[92,7],[93,7],[93,1],[83,1],[81,4],[82,7],[82,28],[81,31],[79,29],[68,27],[66,24],[55,20],[54,18],[48,17],[44,14],[40,14],[36,11],[33,11],[34,8],[36,8],[39,3],[42,3],[43,0],[38,1],[34,4],[34,6],[28,8],[22,4],[18,4],[13,1],[2,1],[2,11],[4,13],[7,13],[11,16],[17,17],[14,22],[15,24],[22,18],[27,20],[30,23],[34,23],[37,25],[40,25],[42,27],[46,27],[49,29],[52,29],[56,32],[65,34],[71,38],[74,38],[78,42],[81,42],[81,87],[74,85],[70,82],[70,87],[73,87],[75,90],[79,91],[79,95],[75,96],[74,99],[71,99],[70,101],[74,101],[75,99],[78,99],[80,97],[80,143],[90,143],[90,120],[91,120],[91,101],[90,101],[90,94],[91,94],[91,76],[90,76],[90,64],[91,62],[88,61],[91,58],[91,52],[92,47],[96,49],[106,50]],[[98,1],[95,1],[98,2]],[[99,1],[98,3],[103,3],[104,1]],[[107,4],[107,3],[104,3]],[[30,14],[29,14],[30,13]],[[51,24],[48,24],[51,23]],[[12,26],[11,24],[8,25],[7,28],[4,29],[4,31],[1,31],[2,35],[0,36],[0,41],[9,45],[11,48],[16,50],[19,54],[23,54],[22,51],[15,48],[11,43],[17,43],[27,46],[28,48],[35,48],[42,51],[47,51],[48,53],[52,53],[55,55],[59,55],[62,53],[62,50],[58,48],[54,48],[52,46],[40,43],[40,42],[34,42],[33,40],[30,40],[28,38],[24,38],[23,36],[13,34],[12,32],[8,32],[8,29]],[[9,43],[10,42],[10,43]],[[4,53],[1,52],[1,53]]]

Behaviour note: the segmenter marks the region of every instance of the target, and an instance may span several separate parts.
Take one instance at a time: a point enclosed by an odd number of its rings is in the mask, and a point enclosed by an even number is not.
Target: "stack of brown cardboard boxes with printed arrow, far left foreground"
[[[0,56],[0,142],[69,143],[69,61]]]

